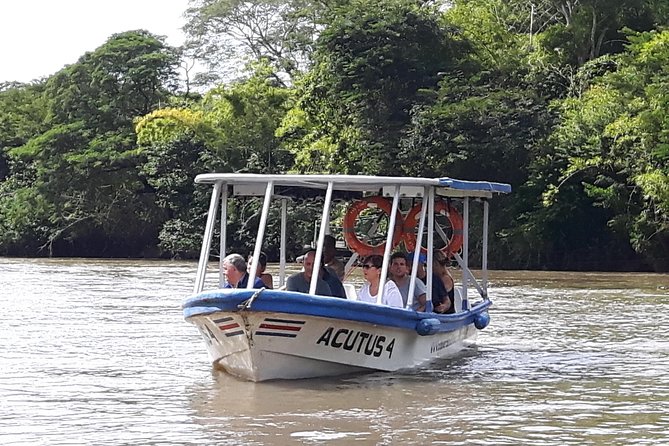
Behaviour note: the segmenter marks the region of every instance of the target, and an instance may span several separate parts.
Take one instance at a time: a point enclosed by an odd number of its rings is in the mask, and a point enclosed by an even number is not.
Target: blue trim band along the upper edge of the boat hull
[[[183,304],[186,319],[221,311],[239,312],[239,305],[250,299],[257,290],[222,289],[200,293]],[[354,321],[404,330],[416,330],[421,335],[448,332],[473,324],[477,315],[492,305],[485,299],[470,310],[455,314],[418,313],[385,305],[350,301],[335,297],[311,296],[292,291],[265,290],[245,311],[314,316],[342,321]],[[428,319],[427,322],[422,322]],[[487,324],[486,324],[487,325]]]

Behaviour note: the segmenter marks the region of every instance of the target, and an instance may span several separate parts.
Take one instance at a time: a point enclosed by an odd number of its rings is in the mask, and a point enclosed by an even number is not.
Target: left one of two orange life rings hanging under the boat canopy
[[[369,256],[372,254],[383,255],[386,247],[385,242],[378,245],[370,245],[360,240],[355,233],[355,222],[358,220],[358,216],[360,213],[362,213],[362,211],[368,208],[378,208],[385,212],[390,219],[392,204],[387,199],[374,196],[365,197],[362,200],[354,201],[351,203],[351,206],[349,206],[348,210],[346,211],[346,215],[344,216],[344,240],[346,240],[346,244],[351,249],[351,251],[358,253],[360,256]],[[402,228],[404,227],[403,220],[404,219],[402,218],[402,214],[398,210],[395,220],[395,234],[393,235],[393,248],[400,243],[404,236],[402,232]]]

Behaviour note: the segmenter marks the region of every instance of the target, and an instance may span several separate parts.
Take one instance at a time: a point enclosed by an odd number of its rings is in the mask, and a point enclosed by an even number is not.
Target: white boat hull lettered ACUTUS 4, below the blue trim
[[[457,353],[473,324],[421,336],[415,330],[272,312],[215,312],[189,318],[215,367],[251,381],[414,368]]]

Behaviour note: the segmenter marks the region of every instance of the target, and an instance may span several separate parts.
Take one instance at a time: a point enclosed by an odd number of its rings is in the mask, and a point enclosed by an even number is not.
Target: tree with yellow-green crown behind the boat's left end
[[[290,99],[291,92],[276,85],[270,68],[257,64],[248,79],[214,88],[189,108],[157,110],[137,121],[146,155],[142,171],[167,215],[159,235],[162,249],[179,257],[199,250],[209,190],[194,185],[197,174],[278,173],[292,165],[275,137]],[[242,241],[257,229],[259,210],[257,200],[230,210],[228,246],[248,249]],[[268,239],[278,243],[278,230],[268,227]]]

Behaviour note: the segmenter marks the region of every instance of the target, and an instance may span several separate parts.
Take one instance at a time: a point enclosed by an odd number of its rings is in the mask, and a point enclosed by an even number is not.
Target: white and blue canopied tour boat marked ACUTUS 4
[[[508,184],[452,178],[235,173],[201,174],[195,181],[212,187],[212,194],[193,294],[185,299],[182,308],[186,321],[194,324],[204,338],[216,369],[249,381],[412,369],[461,351],[490,321],[488,205],[493,196],[511,192]],[[220,261],[227,253],[227,210],[239,197],[259,197],[263,205],[252,253],[254,259],[263,246],[270,207],[280,203],[277,289],[251,288],[252,280],[246,288],[223,288],[222,265],[210,266],[215,233],[218,232]],[[414,311],[411,298],[405,308],[389,307],[380,303],[382,292],[378,293],[376,303],[358,301],[350,283],[344,284],[346,299],[318,296],[316,272],[309,293],[281,289],[286,281],[287,202],[305,198],[323,206],[314,265],[321,265],[323,241],[331,230],[333,204],[347,200],[351,204],[343,232],[353,255],[346,270],[356,268],[362,255],[382,254],[380,283],[385,283],[393,250],[411,248],[415,258],[426,257],[429,302],[432,247],[439,246],[462,272],[455,312]],[[470,206],[475,203],[483,208],[477,214],[482,221],[478,277],[469,267],[469,214]],[[402,209],[408,208],[403,212]],[[374,220],[369,230],[365,229],[366,233],[358,235],[351,225],[370,209],[385,220],[382,223]],[[448,224],[451,227],[446,227]],[[373,234],[381,241],[371,242]],[[409,296],[413,295],[418,263],[414,262],[411,268]],[[211,289],[204,289],[205,284],[212,282],[205,280],[209,269],[217,270],[218,281],[211,284]],[[255,277],[256,271],[254,262],[249,276]]]

